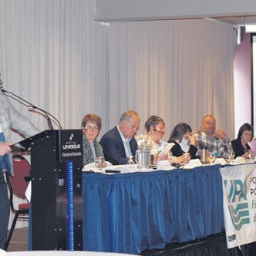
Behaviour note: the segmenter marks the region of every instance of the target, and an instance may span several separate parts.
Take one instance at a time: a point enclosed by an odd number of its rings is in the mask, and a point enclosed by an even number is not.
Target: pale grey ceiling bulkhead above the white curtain
[[[254,0],[96,0],[98,21],[142,21],[255,15]]]

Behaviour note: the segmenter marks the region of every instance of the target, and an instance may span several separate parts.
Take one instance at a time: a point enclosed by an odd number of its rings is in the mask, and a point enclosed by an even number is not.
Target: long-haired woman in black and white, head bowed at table
[[[173,156],[180,157],[184,153],[190,153],[191,159],[197,158],[196,136],[192,133],[191,127],[187,123],[180,122],[174,126],[168,143],[175,144],[170,150]]]

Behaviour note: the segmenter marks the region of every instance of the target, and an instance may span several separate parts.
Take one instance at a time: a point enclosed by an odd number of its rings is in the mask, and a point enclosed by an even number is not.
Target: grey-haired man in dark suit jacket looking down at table
[[[130,156],[138,149],[134,136],[140,129],[140,115],[133,110],[126,111],[120,122],[103,135],[100,144],[105,160],[113,164],[126,164]]]

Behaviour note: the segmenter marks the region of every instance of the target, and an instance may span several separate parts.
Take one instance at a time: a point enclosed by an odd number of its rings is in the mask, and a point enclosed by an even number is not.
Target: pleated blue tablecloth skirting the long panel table
[[[224,229],[219,166],[83,173],[83,248],[138,254]]]

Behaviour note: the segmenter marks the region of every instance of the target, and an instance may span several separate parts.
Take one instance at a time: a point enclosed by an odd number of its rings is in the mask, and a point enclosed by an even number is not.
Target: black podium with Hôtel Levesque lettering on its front
[[[73,247],[83,250],[82,130],[46,130],[19,143],[31,147],[32,250],[70,250],[68,173],[72,165]],[[70,175],[69,175],[70,176]]]

